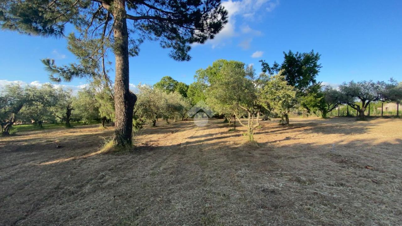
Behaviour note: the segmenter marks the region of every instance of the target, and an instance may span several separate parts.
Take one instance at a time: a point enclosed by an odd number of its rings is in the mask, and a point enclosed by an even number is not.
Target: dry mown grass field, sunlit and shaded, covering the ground
[[[402,119],[157,125],[124,154],[98,125],[0,138],[0,225],[401,225]]]

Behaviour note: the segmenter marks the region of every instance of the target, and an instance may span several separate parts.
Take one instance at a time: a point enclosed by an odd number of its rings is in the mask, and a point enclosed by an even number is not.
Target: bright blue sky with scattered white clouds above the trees
[[[254,64],[282,62],[283,51],[321,54],[319,81],[340,84],[349,80],[402,81],[402,1],[387,0],[240,0],[223,1],[229,23],[203,45],[194,45],[192,60],[176,62],[158,42],[142,44],[130,58],[130,83],[154,84],[163,76],[193,82],[195,71],[217,59]],[[49,82],[40,59],[59,65],[74,62],[65,39],[0,31],[0,86],[12,81]],[[113,58],[111,59],[113,60]],[[111,72],[113,78],[113,72]],[[69,87],[85,79],[62,83]]]

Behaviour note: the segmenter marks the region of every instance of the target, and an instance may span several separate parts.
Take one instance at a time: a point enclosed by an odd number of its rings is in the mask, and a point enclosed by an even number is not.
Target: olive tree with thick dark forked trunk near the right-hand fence
[[[351,81],[341,84],[339,86],[339,90],[345,96],[345,103],[359,113],[360,119],[364,119],[364,111],[371,102],[384,102],[389,99],[386,96],[388,87],[388,84],[386,84],[384,81]],[[359,101],[360,104],[356,101]]]

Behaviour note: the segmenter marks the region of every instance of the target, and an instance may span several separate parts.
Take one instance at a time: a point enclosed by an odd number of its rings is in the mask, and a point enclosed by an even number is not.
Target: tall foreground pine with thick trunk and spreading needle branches
[[[129,91],[129,56],[144,40],[160,40],[172,48],[174,60],[190,60],[191,43],[213,38],[227,23],[220,0],[3,0],[0,26],[32,35],[64,37],[78,62],[56,66],[43,60],[55,81],[75,77],[107,77],[108,53],[115,56],[114,146],[131,146],[135,95]]]

